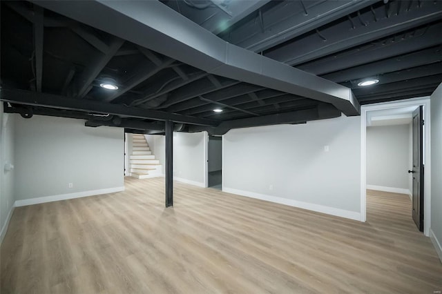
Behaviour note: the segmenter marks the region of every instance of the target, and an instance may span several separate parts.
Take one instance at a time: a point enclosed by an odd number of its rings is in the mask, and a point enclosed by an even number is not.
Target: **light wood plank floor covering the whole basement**
[[[367,222],[175,182],[16,208],[6,293],[434,293],[442,264],[405,195],[368,191]]]

